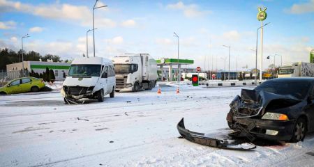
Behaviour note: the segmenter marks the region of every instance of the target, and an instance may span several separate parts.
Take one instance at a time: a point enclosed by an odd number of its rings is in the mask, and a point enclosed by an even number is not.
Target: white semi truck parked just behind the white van
[[[116,91],[151,90],[156,85],[157,63],[149,54],[123,54],[112,59]]]

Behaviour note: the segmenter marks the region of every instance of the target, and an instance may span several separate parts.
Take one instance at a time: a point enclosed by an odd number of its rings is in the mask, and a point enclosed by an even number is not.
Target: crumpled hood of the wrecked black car
[[[263,114],[267,106],[275,101],[281,101],[277,102],[277,105],[274,106],[275,108],[283,108],[297,104],[302,100],[299,100],[293,95],[278,95],[264,90],[257,92],[256,90],[242,89],[241,97],[239,95],[235,97],[230,107],[233,111],[244,111],[246,116],[255,116],[257,113]]]

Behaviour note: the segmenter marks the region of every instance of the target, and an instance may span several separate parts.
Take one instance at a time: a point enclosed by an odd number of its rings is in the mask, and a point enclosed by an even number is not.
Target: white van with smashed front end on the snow
[[[61,94],[64,102],[82,98],[103,102],[104,96],[114,97],[116,78],[114,65],[107,58],[75,58],[70,65]]]

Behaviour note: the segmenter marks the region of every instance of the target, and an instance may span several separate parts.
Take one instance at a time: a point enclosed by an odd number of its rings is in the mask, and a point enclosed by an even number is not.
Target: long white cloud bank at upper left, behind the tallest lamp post
[[[103,3],[99,3],[98,5],[103,5]],[[63,21],[70,20],[73,22],[80,22],[82,26],[92,25],[91,9],[87,6],[74,6],[66,3],[54,3],[50,5],[34,6],[27,3],[0,0],[0,10],[19,11],[22,13],[29,13],[31,15],[36,15],[48,19],[57,19]],[[107,8],[101,8],[101,10],[107,10]],[[98,13],[100,12],[101,11],[98,11]],[[103,18],[96,15],[95,25],[97,25],[97,27],[114,27],[116,24],[111,19]]]

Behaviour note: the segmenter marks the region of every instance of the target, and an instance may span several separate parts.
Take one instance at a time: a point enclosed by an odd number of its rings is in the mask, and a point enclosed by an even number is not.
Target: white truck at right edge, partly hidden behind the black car
[[[314,77],[314,63],[297,62],[279,68],[278,78]]]

